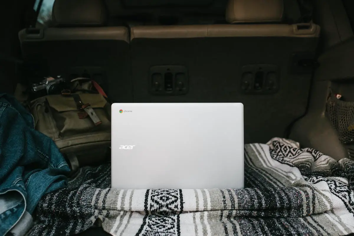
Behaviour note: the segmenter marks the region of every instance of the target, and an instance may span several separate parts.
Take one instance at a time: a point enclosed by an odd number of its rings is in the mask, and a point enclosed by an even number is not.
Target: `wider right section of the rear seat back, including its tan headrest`
[[[242,102],[246,143],[284,137],[306,111],[320,29],[282,24],[283,10],[230,0],[230,24],[132,27],[135,102]]]

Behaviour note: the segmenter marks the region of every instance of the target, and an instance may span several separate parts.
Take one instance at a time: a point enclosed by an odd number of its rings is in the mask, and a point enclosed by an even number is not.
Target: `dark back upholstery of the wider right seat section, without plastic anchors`
[[[313,52],[316,45],[316,38],[133,39],[134,100],[241,102],[244,104],[245,143],[264,143],[272,137],[284,137],[287,126],[305,114],[311,81],[311,74],[289,73],[290,57],[296,52]],[[241,68],[248,64],[278,65],[279,92],[243,94]],[[189,93],[180,96],[150,94],[148,71],[155,65],[185,65]]]

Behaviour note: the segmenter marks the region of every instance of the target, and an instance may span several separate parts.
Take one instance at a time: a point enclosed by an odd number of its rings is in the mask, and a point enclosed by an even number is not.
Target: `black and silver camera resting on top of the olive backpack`
[[[32,84],[32,93],[37,97],[60,94],[65,89],[65,79],[61,76],[46,77],[43,81]]]

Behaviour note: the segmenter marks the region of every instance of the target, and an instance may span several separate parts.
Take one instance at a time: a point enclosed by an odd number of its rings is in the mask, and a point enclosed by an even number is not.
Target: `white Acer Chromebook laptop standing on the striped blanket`
[[[244,188],[241,103],[114,103],[112,187]]]

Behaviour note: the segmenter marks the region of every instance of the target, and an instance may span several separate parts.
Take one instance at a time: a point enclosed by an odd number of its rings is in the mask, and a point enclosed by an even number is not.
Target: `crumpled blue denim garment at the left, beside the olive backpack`
[[[34,129],[33,116],[0,94],[0,235],[32,214],[43,195],[67,186],[69,172],[52,139]]]

